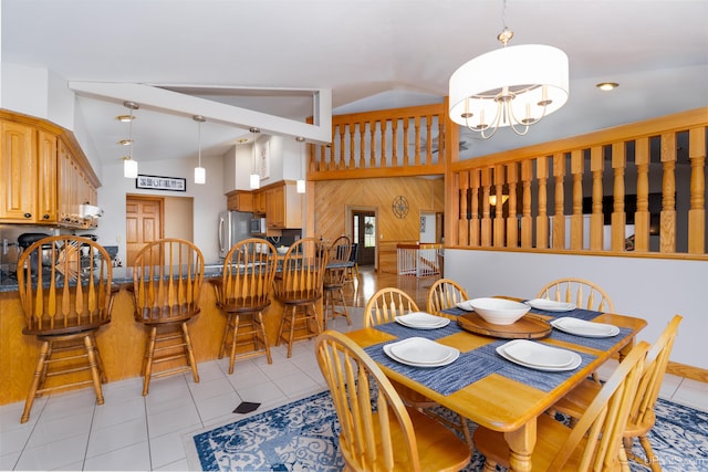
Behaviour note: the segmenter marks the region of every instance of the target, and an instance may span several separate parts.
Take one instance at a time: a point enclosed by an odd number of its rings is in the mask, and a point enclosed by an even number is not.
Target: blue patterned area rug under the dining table
[[[447,410],[446,410],[447,411]],[[649,441],[664,471],[708,470],[708,413],[659,400]],[[472,429],[475,426],[472,424]],[[340,429],[329,391],[192,434],[190,470],[341,471]],[[635,453],[644,455],[635,441]],[[475,453],[468,472],[481,471]],[[650,471],[631,463],[633,472]]]

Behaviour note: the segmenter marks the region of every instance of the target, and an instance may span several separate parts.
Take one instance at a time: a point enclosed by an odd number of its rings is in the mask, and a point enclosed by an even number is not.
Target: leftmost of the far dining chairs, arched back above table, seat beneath
[[[373,327],[384,323],[391,323],[396,319],[396,316],[403,316],[410,312],[418,312],[418,305],[410,295],[400,289],[384,287],[376,292],[368,302],[366,302],[366,306],[364,307],[364,327]],[[392,380],[392,384],[406,405],[439,422],[455,428],[465,437],[468,444],[472,444],[472,437],[469,432],[467,418],[458,415],[457,422],[450,421],[445,416],[439,415],[436,411],[437,409],[442,408],[436,401],[395,380]]]

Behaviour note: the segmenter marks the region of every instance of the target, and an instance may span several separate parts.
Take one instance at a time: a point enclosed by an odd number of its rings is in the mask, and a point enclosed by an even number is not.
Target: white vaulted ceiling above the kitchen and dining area
[[[0,0],[3,63],[69,83],[144,84],[304,122],[311,91],[334,114],[438,103],[452,72],[500,48],[549,44],[570,59],[570,99],[518,137],[462,133],[468,158],[708,105],[708,2],[636,0]],[[620,83],[611,93],[595,84]],[[124,150],[119,98],[77,95],[97,159]],[[140,159],[197,153],[191,112],[136,111]],[[205,123],[202,155],[248,126]]]

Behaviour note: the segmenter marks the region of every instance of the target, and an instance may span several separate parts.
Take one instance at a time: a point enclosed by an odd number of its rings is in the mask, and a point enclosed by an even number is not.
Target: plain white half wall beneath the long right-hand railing
[[[445,276],[470,297],[522,298],[555,279],[587,279],[607,292],[618,313],[648,322],[638,339],[654,343],[675,314],[684,316],[671,360],[708,369],[706,262],[446,249]]]

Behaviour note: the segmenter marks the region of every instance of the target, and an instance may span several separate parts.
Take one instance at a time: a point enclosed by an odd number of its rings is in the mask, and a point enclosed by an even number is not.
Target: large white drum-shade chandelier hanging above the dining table
[[[497,36],[503,48],[472,59],[450,76],[450,119],[485,139],[503,126],[523,136],[568,101],[568,55],[541,44],[507,46],[512,36],[504,22]]]

